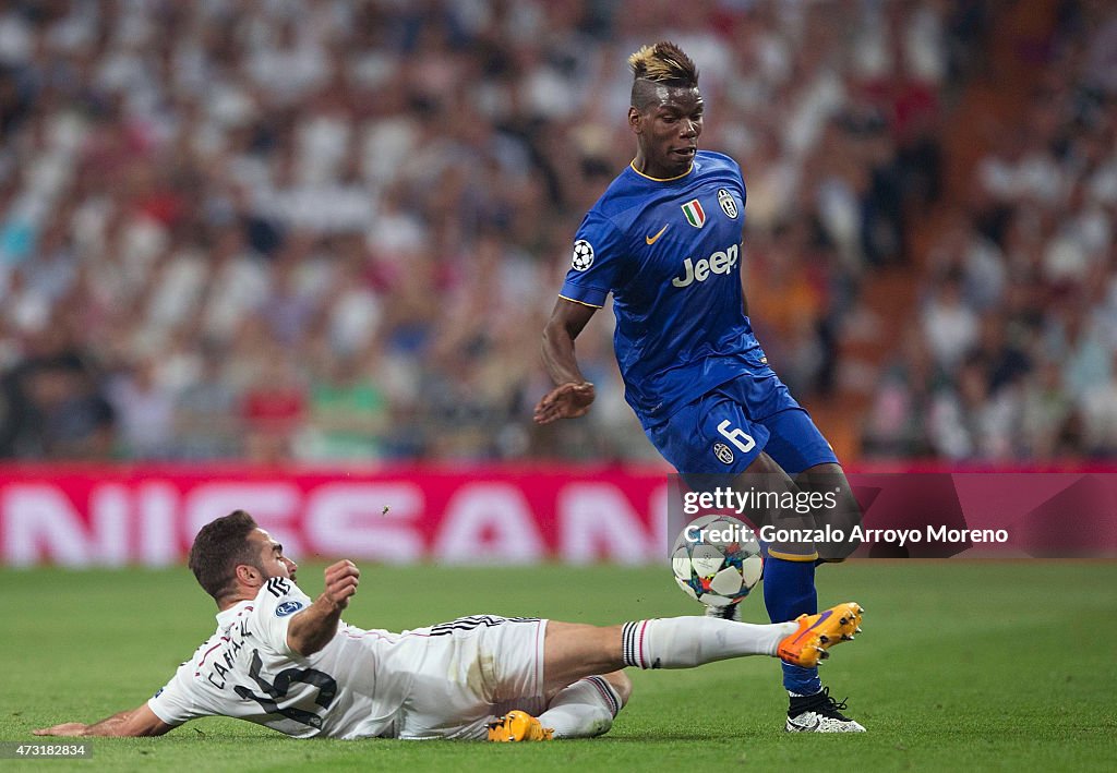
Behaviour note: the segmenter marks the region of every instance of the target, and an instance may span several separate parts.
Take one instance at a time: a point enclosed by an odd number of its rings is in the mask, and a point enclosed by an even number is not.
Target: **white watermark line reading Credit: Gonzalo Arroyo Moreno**
[[[796,542],[846,542],[858,541],[862,543],[882,543],[888,545],[904,546],[913,543],[1006,543],[1009,532],[1004,528],[951,528],[948,526],[935,526],[928,524],[923,528],[866,528],[855,526],[849,531],[834,528],[830,525],[821,528],[781,528],[779,526],[761,526],[755,531],[745,525],[719,524],[715,528],[704,528],[697,524],[690,524],[684,529],[684,538],[687,542],[753,542],[761,540],[767,543],[796,543]]]

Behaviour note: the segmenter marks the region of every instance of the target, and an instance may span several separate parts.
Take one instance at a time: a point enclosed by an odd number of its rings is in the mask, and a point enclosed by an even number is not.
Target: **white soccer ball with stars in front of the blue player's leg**
[[[747,524],[727,515],[707,515],[687,524],[675,541],[671,571],[691,599],[728,607],[761,581],[764,560]]]

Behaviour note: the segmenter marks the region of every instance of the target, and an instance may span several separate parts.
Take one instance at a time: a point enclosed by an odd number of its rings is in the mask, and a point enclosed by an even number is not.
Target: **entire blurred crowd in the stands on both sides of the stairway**
[[[579,338],[590,416],[531,411],[572,235],[632,155],[627,56],[663,38],[745,172],[761,341],[829,399],[865,277],[939,203],[989,6],[10,0],[0,458],[653,458],[609,312]],[[1068,6],[935,245],[870,454],[1117,442],[1117,16]]]

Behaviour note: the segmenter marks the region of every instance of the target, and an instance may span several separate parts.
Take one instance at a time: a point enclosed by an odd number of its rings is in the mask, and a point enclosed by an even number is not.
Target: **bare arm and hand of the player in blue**
[[[596,312],[595,306],[558,298],[543,328],[543,365],[555,388],[535,407],[535,422],[584,416],[593,402],[593,384],[585,380],[574,355],[574,338]]]

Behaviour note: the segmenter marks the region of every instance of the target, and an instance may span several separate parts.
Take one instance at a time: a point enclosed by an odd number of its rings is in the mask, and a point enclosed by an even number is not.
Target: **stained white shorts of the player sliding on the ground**
[[[478,614],[424,629],[424,657],[397,723],[397,737],[484,738],[494,717],[546,707],[547,621]]]

